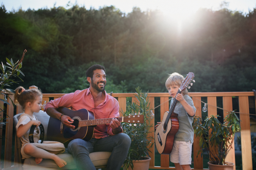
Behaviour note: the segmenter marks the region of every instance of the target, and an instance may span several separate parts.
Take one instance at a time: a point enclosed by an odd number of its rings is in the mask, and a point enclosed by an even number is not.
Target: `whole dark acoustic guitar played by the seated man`
[[[94,127],[96,125],[110,124],[112,118],[94,119],[94,113],[87,109],[72,111],[68,108],[58,108],[58,112],[70,116],[74,122],[74,129],[63,126],[60,120],[50,117],[47,128],[47,140],[65,143],[72,139],[84,139],[90,141],[93,137]],[[144,123],[144,115],[131,115],[116,118],[119,122]]]

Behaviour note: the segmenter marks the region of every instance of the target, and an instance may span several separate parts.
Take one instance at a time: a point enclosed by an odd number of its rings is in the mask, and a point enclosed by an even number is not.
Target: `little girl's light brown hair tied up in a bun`
[[[14,103],[24,108],[27,102],[34,102],[37,96],[43,96],[41,91],[34,88],[25,90],[25,88],[20,86],[15,89]]]

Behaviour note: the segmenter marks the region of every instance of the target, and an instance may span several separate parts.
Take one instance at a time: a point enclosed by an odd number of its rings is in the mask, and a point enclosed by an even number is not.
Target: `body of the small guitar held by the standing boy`
[[[171,114],[166,130],[164,130],[163,124],[168,114],[167,111],[164,113],[163,121],[155,131],[155,144],[160,154],[170,154],[172,152],[174,137],[179,130],[178,114],[174,112]]]

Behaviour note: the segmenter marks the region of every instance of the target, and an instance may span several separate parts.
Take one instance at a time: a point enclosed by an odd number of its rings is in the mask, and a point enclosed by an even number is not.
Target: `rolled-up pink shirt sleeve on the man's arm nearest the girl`
[[[73,104],[73,97],[74,97],[74,93],[70,93],[70,94],[65,94],[64,96],[61,96],[58,99],[51,100],[46,104],[44,111],[46,112],[48,108],[60,108],[60,107],[70,108]]]

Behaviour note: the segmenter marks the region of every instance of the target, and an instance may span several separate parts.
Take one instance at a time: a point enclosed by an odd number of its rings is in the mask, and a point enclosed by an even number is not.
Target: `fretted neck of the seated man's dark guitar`
[[[118,117],[116,118],[119,122],[123,122],[124,117]],[[93,126],[93,125],[104,125],[109,124],[112,121],[113,118],[107,118],[107,119],[92,119],[92,120],[80,120],[79,121],[79,127],[83,126]]]

